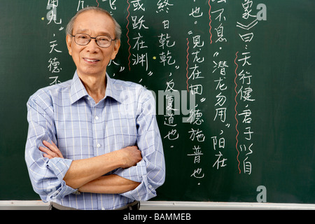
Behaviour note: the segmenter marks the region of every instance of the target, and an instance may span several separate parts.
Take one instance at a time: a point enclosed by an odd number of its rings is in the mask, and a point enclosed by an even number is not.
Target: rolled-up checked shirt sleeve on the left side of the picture
[[[52,105],[41,97],[36,99],[31,97],[27,102],[27,120],[29,130],[25,161],[34,191],[44,202],[53,202],[74,193],[76,189],[66,186],[63,180],[72,160],[63,158],[49,160],[39,151],[39,146],[43,146],[43,140],[57,144]]]

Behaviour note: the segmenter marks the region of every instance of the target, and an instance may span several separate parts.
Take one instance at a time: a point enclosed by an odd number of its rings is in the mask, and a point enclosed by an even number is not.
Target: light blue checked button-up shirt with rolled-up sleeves
[[[76,209],[118,209],[134,200],[149,200],[165,181],[162,140],[153,94],[141,85],[106,76],[106,95],[98,104],[78,74],[72,80],[38,90],[27,102],[29,131],[25,160],[34,191],[44,202]],[[38,147],[53,141],[64,159],[43,157]],[[115,169],[140,185],[122,194],[80,193],[63,178],[73,160],[91,158],[137,145],[142,160]]]

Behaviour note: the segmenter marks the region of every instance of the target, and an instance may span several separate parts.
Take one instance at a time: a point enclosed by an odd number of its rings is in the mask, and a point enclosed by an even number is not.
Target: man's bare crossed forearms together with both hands
[[[48,159],[63,158],[57,146],[43,141],[39,149]],[[139,183],[115,174],[103,176],[113,169],[129,168],[140,162],[141,152],[137,146],[129,146],[94,158],[73,160],[64,176],[67,186],[86,193],[118,194],[134,190]]]

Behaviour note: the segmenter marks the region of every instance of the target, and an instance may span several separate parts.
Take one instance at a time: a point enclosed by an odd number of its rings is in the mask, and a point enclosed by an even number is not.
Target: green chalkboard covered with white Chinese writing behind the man
[[[154,200],[315,203],[313,0],[0,1],[0,200],[39,200],[27,99],[76,69],[65,27],[109,10],[108,73],[155,94],[167,167]]]

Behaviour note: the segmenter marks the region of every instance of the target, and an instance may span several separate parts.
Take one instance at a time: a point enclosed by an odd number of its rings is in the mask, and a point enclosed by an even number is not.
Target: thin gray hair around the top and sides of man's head
[[[120,36],[121,36],[121,32],[122,31],[121,31],[121,27],[118,24],[118,22],[113,18],[111,13],[109,13],[106,10],[104,10],[103,8],[98,8],[96,6],[88,6],[86,8],[82,8],[81,10],[78,10],[78,13],[76,13],[76,15],[74,15],[73,18],[71,18],[71,20],[69,21],[68,25],[66,25],[66,34],[73,35],[72,34],[73,24],[76,21],[76,18],[78,18],[78,15],[80,15],[81,13],[87,12],[89,10],[94,10],[94,11],[105,13],[106,15],[109,15],[109,17],[113,20],[113,22],[115,24],[115,39],[116,40],[120,40]]]

